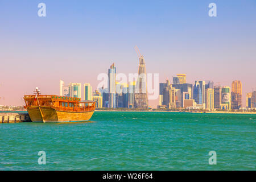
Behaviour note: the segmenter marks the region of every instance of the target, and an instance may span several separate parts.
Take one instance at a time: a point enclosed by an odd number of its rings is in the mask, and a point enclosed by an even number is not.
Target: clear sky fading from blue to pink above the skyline
[[[46,17],[38,3],[46,3]],[[217,17],[208,5],[217,4]],[[115,63],[136,73],[137,45],[160,82],[186,73],[256,88],[256,1],[0,1],[0,105],[23,105],[36,86],[59,94],[59,80],[89,82]],[[150,101],[151,106],[158,100]]]

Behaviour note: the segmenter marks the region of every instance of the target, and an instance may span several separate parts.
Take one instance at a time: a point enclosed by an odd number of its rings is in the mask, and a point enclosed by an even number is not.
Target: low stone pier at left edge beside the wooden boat
[[[31,122],[28,113],[0,113],[0,123]]]

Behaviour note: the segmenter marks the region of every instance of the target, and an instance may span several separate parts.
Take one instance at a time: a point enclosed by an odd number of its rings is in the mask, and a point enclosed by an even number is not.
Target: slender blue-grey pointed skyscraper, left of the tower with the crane
[[[110,66],[108,70],[109,77],[109,107],[115,108],[115,75],[116,69],[114,63]]]

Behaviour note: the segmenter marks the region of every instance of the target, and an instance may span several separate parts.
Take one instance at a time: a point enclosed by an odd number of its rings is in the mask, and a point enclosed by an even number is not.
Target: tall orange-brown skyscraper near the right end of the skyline
[[[235,80],[232,82],[232,109],[239,109],[242,107],[242,82]]]

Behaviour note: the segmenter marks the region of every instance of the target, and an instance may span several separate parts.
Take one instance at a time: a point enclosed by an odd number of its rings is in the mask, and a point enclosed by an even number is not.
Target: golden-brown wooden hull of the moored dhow
[[[55,110],[51,106],[31,106],[27,111],[32,122],[89,121],[94,113],[94,110],[84,112]]]

